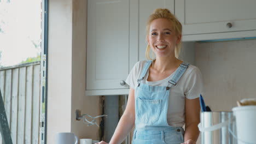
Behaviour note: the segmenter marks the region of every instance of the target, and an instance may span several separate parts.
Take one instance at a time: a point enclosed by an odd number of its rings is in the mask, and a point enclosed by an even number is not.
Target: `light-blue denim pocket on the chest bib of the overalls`
[[[158,121],[161,112],[161,99],[141,99],[137,101],[137,118],[145,124]]]

